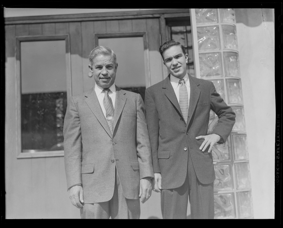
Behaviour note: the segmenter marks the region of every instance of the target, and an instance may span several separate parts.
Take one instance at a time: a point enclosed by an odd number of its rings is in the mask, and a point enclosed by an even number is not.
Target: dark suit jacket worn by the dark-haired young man
[[[182,186],[188,166],[188,150],[194,170],[202,184],[215,179],[212,154],[209,146],[199,149],[207,135],[210,109],[219,120],[212,133],[222,137],[224,143],[235,123],[235,113],[216,92],[212,82],[193,78],[190,80],[190,102],[187,124],[170,83],[170,75],[145,91],[146,121],[152,149],[154,173],[161,172],[162,189]]]

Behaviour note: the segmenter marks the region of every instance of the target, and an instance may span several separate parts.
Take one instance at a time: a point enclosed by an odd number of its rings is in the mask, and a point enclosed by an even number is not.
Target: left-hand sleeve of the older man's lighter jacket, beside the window
[[[63,127],[67,188],[82,184],[82,137],[78,109],[73,97],[68,101]]]

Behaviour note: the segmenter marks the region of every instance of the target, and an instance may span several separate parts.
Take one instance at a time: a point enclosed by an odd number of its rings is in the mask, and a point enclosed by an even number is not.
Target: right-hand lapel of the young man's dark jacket
[[[198,103],[198,98],[200,96],[200,88],[198,87],[199,84],[196,84],[192,76],[190,75],[189,75],[189,80],[190,80],[190,103],[189,103],[187,126],[190,124],[192,115],[196,108],[196,104]]]

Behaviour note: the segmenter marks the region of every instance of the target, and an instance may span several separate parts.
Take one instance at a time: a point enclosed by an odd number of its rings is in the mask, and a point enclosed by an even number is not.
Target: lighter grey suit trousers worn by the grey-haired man
[[[140,200],[126,199],[115,171],[115,187],[110,201],[85,203],[81,208],[82,219],[139,219],[141,215]]]

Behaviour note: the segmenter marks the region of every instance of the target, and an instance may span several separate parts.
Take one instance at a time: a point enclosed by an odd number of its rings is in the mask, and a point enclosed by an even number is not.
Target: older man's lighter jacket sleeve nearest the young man
[[[151,148],[145,119],[144,103],[141,95],[137,98],[137,155],[140,169],[140,179],[154,177],[152,168]]]

